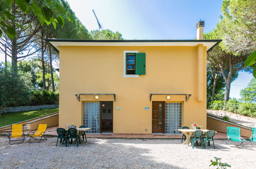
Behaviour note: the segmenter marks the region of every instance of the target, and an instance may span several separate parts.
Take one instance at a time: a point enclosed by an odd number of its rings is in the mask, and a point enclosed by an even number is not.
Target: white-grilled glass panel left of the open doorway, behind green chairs
[[[91,128],[87,133],[100,133],[100,102],[83,103],[83,123]]]

